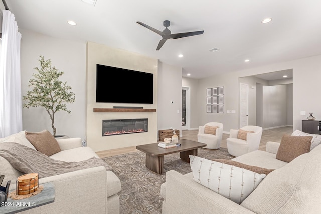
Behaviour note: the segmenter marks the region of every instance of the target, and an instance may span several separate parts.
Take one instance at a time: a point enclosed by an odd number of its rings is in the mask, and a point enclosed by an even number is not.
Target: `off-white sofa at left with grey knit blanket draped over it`
[[[0,139],[2,142],[16,142],[34,148],[26,139],[25,131]],[[80,138],[57,142],[62,151],[50,156],[53,159],[78,162],[91,157],[99,158],[90,147],[82,146]],[[0,157],[0,173],[5,175],[3,183],[11,180],[10,192],[15,190],[17,177],[23,174],[3,157]],[[121,190],[120,180],[112,171],[106,171],[104,166],[39,179],[39,184],[48,182],[55,183],[55,202],[23,213],[119,213],[117,193]]]

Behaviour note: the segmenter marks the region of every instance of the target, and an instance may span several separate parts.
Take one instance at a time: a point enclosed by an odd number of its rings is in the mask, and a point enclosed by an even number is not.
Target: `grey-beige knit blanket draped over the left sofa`
[[[39,151],[14,142],[0,143],[0,156],[16,170],[25,174],[38,173],[39,178],[97,166],[112,170],[112,167],[100,158],[92,157],[81,162],[65,162],[52,159]]]

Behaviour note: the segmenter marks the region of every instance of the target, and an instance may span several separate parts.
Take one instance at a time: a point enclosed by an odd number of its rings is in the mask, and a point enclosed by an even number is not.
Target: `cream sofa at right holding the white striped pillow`
[[[276,159],[280,143],[233,160],[275,169],[239,205],[195,182],[192,172],[166,173],[163,213],[321,213],[321,145],[291,162]]]

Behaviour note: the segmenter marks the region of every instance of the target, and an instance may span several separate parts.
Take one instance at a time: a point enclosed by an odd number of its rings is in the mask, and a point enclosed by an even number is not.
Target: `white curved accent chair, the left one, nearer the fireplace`
[[[214,134],[205,134],[205,126],[218,126],[216,129],[216,133]],[[207,146],[203,148],[207,149],[218,149],[221,146],[223,136],[223,124],[222,123],[216,123],[216,122],[210,122],[206,123],[204,126],[199,126],[199,133],[197,135],[197,141],[200,143],[206,143]]]

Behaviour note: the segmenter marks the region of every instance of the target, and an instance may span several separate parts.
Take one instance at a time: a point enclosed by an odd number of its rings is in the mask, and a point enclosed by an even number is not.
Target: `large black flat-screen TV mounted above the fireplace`
[[[97,64],[96,102],[153,104],[153,74]]]

